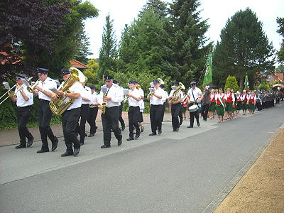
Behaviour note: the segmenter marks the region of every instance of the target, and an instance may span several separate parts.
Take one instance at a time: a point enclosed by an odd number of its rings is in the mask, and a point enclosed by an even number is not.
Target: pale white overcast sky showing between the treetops
[[[89,0],[99,9],[97,18],[85,21],[85,31],[91,43],[90,50],[93,55],[89,58],[99,58],[99,48],[102,46],[102,32],[105,24],[105,17],[110,14],[114,19],[114,30],[116,38],[120,40],[121,31],[125,24],[130,24],[137,17],[138,11],[141,11],[147,0]],[[268,36],[269,41],[273,42],[276,50],[279,50],[282,41],[281,36],[276,32],[278,24],[277,17],[284,17],[284,1],[271,0],[201,0],[200,9],[202,9],[201,17],[208,18],[210,25],[209,30],[205,34],[207,38],[216,43],[219,35],[224,28],[228,18],[236,13],[236,11],[244,10],[249,7],[256,13],[258,20],[263,23],[263,31]]]

